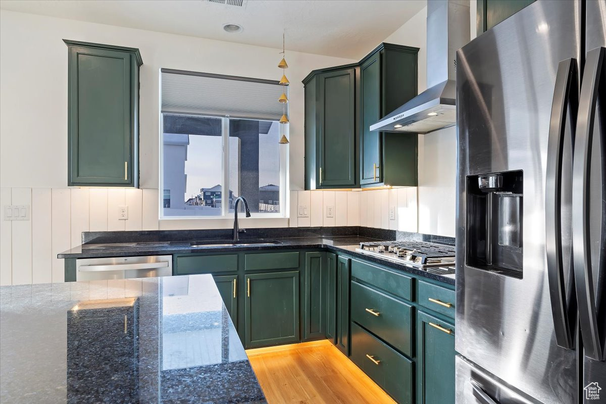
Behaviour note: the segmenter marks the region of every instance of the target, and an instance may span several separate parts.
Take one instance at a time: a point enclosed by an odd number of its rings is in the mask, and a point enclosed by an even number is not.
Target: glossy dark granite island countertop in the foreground
[[[266,403],[210,275],[0,287],[0,402]]]

